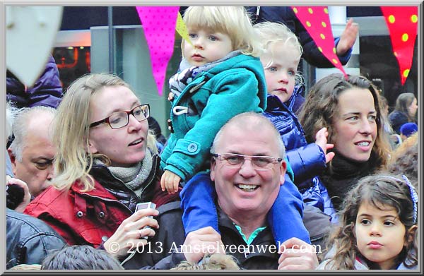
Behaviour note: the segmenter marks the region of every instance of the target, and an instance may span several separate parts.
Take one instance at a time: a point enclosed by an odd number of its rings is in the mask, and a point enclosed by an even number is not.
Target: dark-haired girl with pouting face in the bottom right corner
[[[418,268],[418,195],[406,176],[367,176],[348,193],[319,270]]]

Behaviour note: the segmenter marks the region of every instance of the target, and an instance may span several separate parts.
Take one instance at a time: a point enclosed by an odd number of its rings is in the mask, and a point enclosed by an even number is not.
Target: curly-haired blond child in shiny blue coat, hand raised
[[[298,73],[302,46],[298,37],[283,24],[263,22],[254,25],[254,30],[264,49],[260,59],[269,94],[264,116],[276,126],[283,139],[288,161],[295,173],[295,184],[304,202],[326,212],[331,208],[331,201],[317,175],[334,157],[334,152],[326,152],[333,145],[327,144],[326,128],[317,132],[315,143],[308,144],[292,109],[302,84]]]

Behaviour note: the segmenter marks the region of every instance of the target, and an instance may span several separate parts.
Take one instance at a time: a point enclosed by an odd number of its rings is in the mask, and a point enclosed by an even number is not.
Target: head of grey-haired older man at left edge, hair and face
[[[50,126],[55,114],[52,107],[31,107],[22,109],[13,122],[15,138],[8,148],[12,172],[28,184],[31,198],[51,185],[57,150],[52,145]]]

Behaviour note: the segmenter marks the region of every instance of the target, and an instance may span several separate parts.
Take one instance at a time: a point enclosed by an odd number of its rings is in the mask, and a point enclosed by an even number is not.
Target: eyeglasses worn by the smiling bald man
[[[252,155],[237,155],[236,153],[216,153],[212,155],[223,162],[227,167],[240,169],[246,160],[250,160],[254,169],[257,171],[266,171],[271,169],[272,165],[281,162],[283,158],[272,156],[252,156]]]

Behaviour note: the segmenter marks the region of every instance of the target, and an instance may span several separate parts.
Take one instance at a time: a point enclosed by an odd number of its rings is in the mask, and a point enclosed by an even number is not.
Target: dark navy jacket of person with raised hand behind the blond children
[[[246,7],[247,11],[253,15],[257,14],[259,8],[259,14],[257,18],[253,16],[254,23],[261,23],[264,21],[283,23],[286,25],[296,36],[299,37],[300,44],[303,47],[302,57],[311,65],[318,68],[332,68],[333,64],[321,53],[315,44],[314,40],[310,36],[309,32],[305,27],[300,23],[300,20],[293,12],[293,9],[290,6],[248,6]],[[340,38],[334,40],[334,44],[337,45]],[[345,65],[348,63],[351,58],[352,49],[343,54],[343,56],[338,56],[341,64]]]

